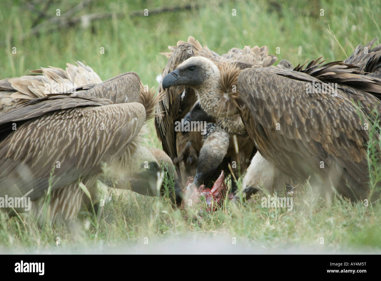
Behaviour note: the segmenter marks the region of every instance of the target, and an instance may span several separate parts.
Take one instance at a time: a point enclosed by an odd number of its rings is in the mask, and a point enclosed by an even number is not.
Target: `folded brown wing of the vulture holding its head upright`
[[[366,198],[368,132],[363,123],[367,117],[341,90],[337,97],[307,94],[306,82],[288,78],[299,74],[283,70],[280,76],[267,67],[242,70],[240,113],[249,135],[261,155],[285,174],[300,179],[317,175],[324,181],[336,173],[341,175],[339,192]]]

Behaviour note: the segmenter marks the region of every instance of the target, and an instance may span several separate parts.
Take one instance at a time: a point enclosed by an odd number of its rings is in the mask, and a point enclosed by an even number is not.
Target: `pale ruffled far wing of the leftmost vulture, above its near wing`
[[[138,101],[140,78],[135,72],[123,73],[102,82],[90,66],[79,61],[77,64],[78,67],[68,63],[66,70],[42,67],[31,71],[38,74],[0,80],[0,115],[19,103],[51,94],[82,93],[107,98],[113,103]],[[121,93],[126,85],[128,91]]]

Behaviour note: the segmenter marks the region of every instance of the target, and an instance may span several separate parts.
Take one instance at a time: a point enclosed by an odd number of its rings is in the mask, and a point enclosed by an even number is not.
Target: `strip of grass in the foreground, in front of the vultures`
[[[281,194],[279,196],[283,196]],[[106,197],[109,197],[107,194]],[[102,195],[102,198],[103,197]],[[265,249],[303,247],[315,251],[368,251],[381,245],[379,227],[381,208],[373,204],[351,204],[334,200],[327,205],[305,187],[294,196],[293,210],[262,208],[261,195],[243,204],[227,202],[215,212],[197,208],[187,212],[171,208],[166,198],[153,198],[125,191],[111,191],[98,217],[88,212],[78,214],[76,226],[68,232],[64,222],[40,225],[33,215],[21,214],[7,220],[1,213],[0,245],[12,251],[47,251],[90,249],[99,244],[117,250],[120,245],[143,246],[149,243],[186,238],[221,238],[260,244]],[[320,244],[321,239],[324,244]]]

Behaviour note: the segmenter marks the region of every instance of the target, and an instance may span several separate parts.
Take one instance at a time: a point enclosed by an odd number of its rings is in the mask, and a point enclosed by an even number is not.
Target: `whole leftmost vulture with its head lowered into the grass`
[[[64,220],[96,201],[102,174],[115,187],[157,195],[159,162],[168,160],[142,145],[159,95],[135,72],[102,81],[77,63],[0,80],[0,197],[29,197],[36,213],[49,198],[50,217]]]

